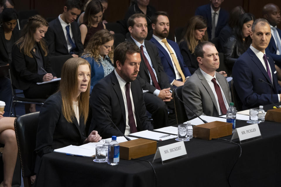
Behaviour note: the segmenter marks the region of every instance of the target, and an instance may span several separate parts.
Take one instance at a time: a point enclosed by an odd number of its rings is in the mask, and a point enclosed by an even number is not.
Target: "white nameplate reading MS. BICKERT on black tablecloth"
[[[161,157],[163,163],[163,161],[165,160],[180,157],[182,155],[186,155],[184,141],[172,143],[167,146],[158,147],[152,162],[154,162],[155,159]]]

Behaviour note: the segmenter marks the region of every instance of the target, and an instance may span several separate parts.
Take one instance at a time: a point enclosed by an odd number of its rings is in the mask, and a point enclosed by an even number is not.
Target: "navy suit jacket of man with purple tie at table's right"
[[[271,86],[259,82],[258,79],[263,79],[265,82],[272,84],[273,102],[278,103],[279,95],[277,94],[281,93],[281,87],[277,81],[272,58],[267,56],[267,60],[271,68],[273,84],[261,61],[250,48],[237,59],[233,66],[232,77],[234,87],[243,103],[243,109],[271,103]]]

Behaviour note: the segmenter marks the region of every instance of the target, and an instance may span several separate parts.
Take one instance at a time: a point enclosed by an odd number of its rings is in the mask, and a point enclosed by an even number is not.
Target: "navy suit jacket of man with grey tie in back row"
[[[207,32],[208,37],[211,39],[212,33],[212,14],[211,14],[211,4],[206,4],[203,6],[199,6],[195,15],[201,15],[207,20]],[[218,37],[220,34],[220,30],[227,24],[229,13],[224,9],[220,8],[219,18],[217,19],[217,27],[215,30],[215,37]]]

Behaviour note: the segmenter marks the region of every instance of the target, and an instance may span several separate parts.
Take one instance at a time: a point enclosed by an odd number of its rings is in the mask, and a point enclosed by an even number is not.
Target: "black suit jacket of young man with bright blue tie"
[[[76,49],[73,51],[76,55],[81,56],[84,50],[81,42],[81,33],[76,21],[71,23],[71,31],[73,33]],[[68,55],[68,47],[66,38],[64,36],[64,30],[62,29],[59,18],[52,20],[49,23],[48,31],[45,35],[48,43],[50,56]]]

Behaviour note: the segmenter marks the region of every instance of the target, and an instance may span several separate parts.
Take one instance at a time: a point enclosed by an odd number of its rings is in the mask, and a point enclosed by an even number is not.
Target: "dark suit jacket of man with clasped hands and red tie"
[[[133,41],[131,36],[128,37],[127,40],[129,42],[135,44],[135,42]],[[146,51],[148,52],[148,55],[150,57],[153,68],[156,72],[156,76],[157,76],[157,80],[158,80],[158,84],[159,84],[160,88],[161,89],[171,88],[172,86],[171,86],[171,84],[169,84],[169,79],[163,69],[163,65],[161,63],[161,59],[159,57],[157,47],[148,40],[144,40],[144,45],[145,45]],[[141,57],[140,71],[138,72],[137,79],[139,80],[140,85],[143,88],[143,90],[148,90],[148,92],[153,93],[156,88],[155,88],[155,86],[150,84],[148,68],[145,65],[143,56],[141,54],[140,54],[140,57]]]

